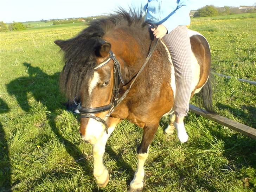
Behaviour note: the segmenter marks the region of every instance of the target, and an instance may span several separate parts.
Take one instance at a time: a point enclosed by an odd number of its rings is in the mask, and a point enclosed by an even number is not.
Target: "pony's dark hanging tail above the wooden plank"
[[[211,77],[209,78],[201,91],[197,94],[197,103],[206,109],[210,113],[216,113],[212,107],[212,87],[211,87]]]

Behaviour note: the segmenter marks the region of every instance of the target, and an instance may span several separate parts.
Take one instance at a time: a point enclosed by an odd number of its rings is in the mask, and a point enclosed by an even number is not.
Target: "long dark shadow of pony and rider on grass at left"
[[[8,93],[15,96],[19,106],[26,112],[30,112],[33,108],[28,102],[31,97],[30,94],[36,101],[44,104],[47,111],[51,114],[47,115],[47,120],[57,140],[65,146],[66,151],[74,160],[82,158],[82,160],[77,161],[77,164],[82,167],[84,174],[91,175],[91,169],[88,167],[88,161],[83,153],[74,143],[65,139],[56,126],[56,116],[59,114],[58,110],[65,109],[61,103],[64,101],[64,97],[60,94],[58,86],[59,72],[48,75],[40,68],[33,67],[29,63],[24,63],[23,65],[27,68],[28,77],[19,77],[7,84]],[[1,135],[2,137],[4,136]],[[42,177],[46,177],[46,175],[41,175],[40,178]],[[33,186],[30,186],[30,188],[32,189]]]

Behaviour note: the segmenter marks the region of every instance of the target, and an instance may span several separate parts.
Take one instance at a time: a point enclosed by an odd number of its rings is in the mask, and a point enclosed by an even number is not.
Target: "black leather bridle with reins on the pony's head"
[[[106,43],[105,40],[103,40],[103,43]],[[126,97],[126,95],[128,94],[129,90],[132,88],[133,83],[135,82],[135,80],[137,79],[137,77],[139,76],[139,74],[141,73],[141,71],[144,69],[144,67],[146,66],[149,58],[152,56],[152,53],[156,47],[158,43],[158,39],[155,40],[155,43],[153,44],[145,63],[142,65],[140,71],[137,73],[137,75],[134,77],[132,83],[130,84],[130,87],[124,92],[124,94],[122,95],[122,97],[119,98],[119,91],[120,91],[120,82],[124,85],[124,81],[123,81],[123,77],[122,77],[122,73],[120,70],[120,63],[119,61],[116,59],[115,54],[110,50],[109,54],[110,56],[105,59],[102,63],[98,64],[94,70],[97,70],[99,68],[102,68],[103,66],[105,66],[106,64],[108,64],[108,62],[113,59],[114,60],[114,85],[113,85],[113,91],[112,91],[112,96],[111,96],[111,100],[110,100],[110,104],[108,105],[104,105],[102,107],[94,107],[94,108],[84,108],[81,106],[81,102],[77,104],[76,102],[76,97],[74,98],[74,102],[77,105],[77,109],[79,111],[79,113],[81,113],[80,118],[92,118],[95,119],[96,121],[101,122],[102,124],[104,124],[105,126],[105,130],[106,133],[108,134],[108,125],[107,123],[103,120],[105,119],[105,117],[108,117],[111,115],[111,113],[113,112],[114,108],[119,105],[119,103],[121,103],[124,99],[124,97]],[[94,115],[91,114],[96,114],[96,113],[101,113],[104,111],[109,111],[107,115],[105,115],[105,117],[103,119],[101,119],[100,117],[96,117]]]

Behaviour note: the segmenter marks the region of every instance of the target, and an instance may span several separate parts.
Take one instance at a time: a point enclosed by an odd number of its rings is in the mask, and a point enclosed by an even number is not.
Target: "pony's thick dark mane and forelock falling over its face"
[[[60,90],[69,101],[79,95],[81,84],[92,75],[95,67],[95,51],[100,47],[100,38],[120,27],[130,27],[139,33],[147,22],[143,19],[143,11],[135,9],[127,12],[120,8],[115,14],[96,19],[76,37],[62,41],[65,65],[60,74]]]

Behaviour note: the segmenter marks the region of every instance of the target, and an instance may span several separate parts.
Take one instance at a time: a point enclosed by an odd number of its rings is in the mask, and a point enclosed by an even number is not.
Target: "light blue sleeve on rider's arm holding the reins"
[[[168,19],[162,23],[167,29],[167,33],[170,33],[174,28],[179,26],[179,23],[183,20],[186,21],[190,19],[190,4],[191,0],[180,0],[174,12],[170,13]]]

